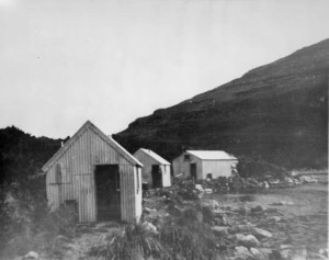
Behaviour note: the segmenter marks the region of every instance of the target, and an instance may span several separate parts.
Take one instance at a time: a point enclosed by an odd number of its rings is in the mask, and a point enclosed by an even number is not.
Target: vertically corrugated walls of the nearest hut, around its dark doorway
[[[57,163],[61,166],[61,183],[55,182],[55,166]],[[82,131],[76,142],[47,171],[46,184],[49,205],[56,208],[67,200],[77,200],[79,222],[95,222],[94,169],[97,165],[118,165],[122,219],[134,222],[139,218],[141,211],[136,210],[136,205],[140,204],[141,206],[141,195],[136,194],[137,170],[135,168],[137,167],[111,147],[92,127]]]

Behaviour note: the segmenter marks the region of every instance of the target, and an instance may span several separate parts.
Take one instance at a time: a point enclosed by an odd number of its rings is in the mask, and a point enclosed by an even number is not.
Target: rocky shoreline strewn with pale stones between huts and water
[[[264,189],[284,189],[305,183],[315,183],[313,178],[285,178],[282,181],[257,181],[254,179],[219,178],[217,180],[181,181],[171,188],[149,191],[144,199],[143,225],[154,231],[163,228],[177,217],[189,217],[209,228],[218,239],[218,250],[224,259],[256,259],[256,260],[317,260],[328,259],[328,249],[318,251],[308,250],[305,245],[296,246],[283,240],[281,245],[274,244],[273,234],[259,225],[245,221],[238,223],[232,216],[259,217],[261,223],[283,226],[287,222],[284,217],[270,216],[276,212],[274,207],[262,205],[220,206],[216,200],[205,194],[254,192]],[[293,202],[279,201],[273,206],[292,206]],[[275,215],[275,214],[274,214]],[[189,216],[189,217],[188,217]],[[247,218],[246,218],[247,219]]]

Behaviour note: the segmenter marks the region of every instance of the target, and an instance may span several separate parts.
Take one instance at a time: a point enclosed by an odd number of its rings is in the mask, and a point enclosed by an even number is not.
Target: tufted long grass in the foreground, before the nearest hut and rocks
[[[183,214],[156,230],[146,223],[126,225],[90,253],[109,260],[212,260],[219,259],[217,240],[208,225]]]

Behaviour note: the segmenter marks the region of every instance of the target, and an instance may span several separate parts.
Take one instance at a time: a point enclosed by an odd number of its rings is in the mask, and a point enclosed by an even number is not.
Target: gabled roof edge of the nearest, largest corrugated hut
[[[106,136],[103,132],[101,132],[98,127],[95,127],[90,121],[87,121],[80,129],[68,140],[65,145],[43,166],[42,170],[47,171],[63,155],[66,150],[70,148],[70,146],[79,138],[79,136],[84,132],[84,129],[91,128],[97,135],[99,135],[109,146],[115,149],[120,155],[122,155],[127,161],[132,165],[137,165],[143,167],[140,161],[138,161],[135,157],[133,157],[125,148],[123,148],[120,144],[117,144],[110,136]]]

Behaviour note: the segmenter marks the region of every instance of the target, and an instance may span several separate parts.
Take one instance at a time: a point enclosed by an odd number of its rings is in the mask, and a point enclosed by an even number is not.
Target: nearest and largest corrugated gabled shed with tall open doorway
[[[43,167],[48,205],[75,204],[80,223],[138,222],[141,167],[88,121]]]

